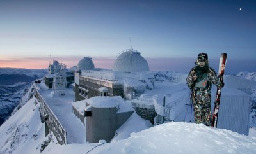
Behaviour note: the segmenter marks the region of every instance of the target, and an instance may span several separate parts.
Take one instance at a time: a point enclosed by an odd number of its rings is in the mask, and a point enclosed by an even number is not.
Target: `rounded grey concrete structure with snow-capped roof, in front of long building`
[[[126,122],[134,109],[120,96],[104,99],[98,96],[74,102],[73,111],[86,126],[86,141],[98,143],[101,139],[111,141],[115,130]]]

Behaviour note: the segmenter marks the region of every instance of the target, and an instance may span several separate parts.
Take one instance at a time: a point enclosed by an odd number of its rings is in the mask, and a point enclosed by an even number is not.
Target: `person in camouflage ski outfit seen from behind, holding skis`
[[[195,123],[204,123],[210,126],[211,114],[211,86],[212,84],[223,87],[224,83],[209,66],[207,53],[199,53],[195,62],[196,66],[191,69],[186,79],[191,89],[191,100],[194,106]]]

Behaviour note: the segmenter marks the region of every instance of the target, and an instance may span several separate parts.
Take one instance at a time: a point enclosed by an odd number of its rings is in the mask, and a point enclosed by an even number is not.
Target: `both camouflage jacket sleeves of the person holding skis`
[[[188,74],[188,77],[186,79],[186,83],[188,87],[192,90],[193,88],[198,88],[196,87],[196,82],[198,82],[198,78],[200,78],[200,67],[195,66],[191,69],[191,71]],[[204,69],[204,73],[207,74],[207,87],[208,89],[211,89],[212,84],[218,86],[220,85],[220,80],[218,78],[218,74],[212,69],[210,66],[205,66],[206,69]],[[198,71],[199,70],[199,71]],[[199,73],[198,73],[199,72]]]

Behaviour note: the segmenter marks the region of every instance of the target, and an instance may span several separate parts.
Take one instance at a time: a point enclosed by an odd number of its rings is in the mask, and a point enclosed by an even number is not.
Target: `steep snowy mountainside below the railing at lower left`
[[[45,136],[38,107],[33,98],[1,125],[0,153],[38,153]]]

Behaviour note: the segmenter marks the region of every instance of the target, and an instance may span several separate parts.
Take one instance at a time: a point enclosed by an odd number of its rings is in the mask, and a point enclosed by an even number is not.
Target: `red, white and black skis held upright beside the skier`
[[[218,76],[221,82],[223,82],[226,61],[227,61],[227,53],[221,53],[220,63],[219,63],[219,73],[218,73]],[[217,87],[214,110],[212,114],[212,127],[217,127],[220,96],[221,96],[221,87]]]

